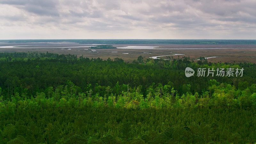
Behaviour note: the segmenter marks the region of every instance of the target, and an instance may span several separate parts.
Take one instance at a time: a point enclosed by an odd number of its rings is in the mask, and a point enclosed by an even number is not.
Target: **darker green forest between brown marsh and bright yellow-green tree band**
[[[31,95],[35,96],[36,92],[44,92],[46,98],[55,97],[56,99],[60,96],[52,93],[50,90],[56,88],[59,91],[72,89],[71,97],[76,97],[79,92],[89,92],[90,89],[92,89],[92,94],[96,92],[103,97],[106,92],[102,90],[108,86],[113,88],[117,82],[120,85],[129,84],[132,90],[136,90],[141,85],[140,91],[144,96],[148,94],[147,89],[152,83],[164,86],[170,82],[172,83],[171,87],[178,91],[179,95],[182,95],[186,94],[188,90],[187,84],[190,85],[190,92],[202,94],[202,91],[207,91],[208,81],[211,79],[234,85],[241,91],[256,82],[256,65],[251,63],[198,65],[187,61],[186,57],[172,61],[142,60],[140,57],[138,60],[142,64],[124,63],[124,60],[120,58],[115,58],[114,61],[90,60],[83,57],[77,58],[70,54],[58,55],[36,52],[0,53],[0,87],[2,88],[2,94],[5,96],[3,100],[10,100],[16,94],[15,99],[19,101],[30,98]],[[184,74],[186,67],[193,69],[200,67],[215,69],[221,67],[242,67],[244,68],[244,76],[192,76],[187,78]],[[74,84],[74,86],[71,86],[71,89],[66,89],[64,86],[68,80]],[[91,86],[88,87],[88,84],[91,84]],[[97,84],[98,86],[96,86]],[[121,90],[113,90],[116,95],[122,92]],[[162,91],[159,92],[161,97]]]

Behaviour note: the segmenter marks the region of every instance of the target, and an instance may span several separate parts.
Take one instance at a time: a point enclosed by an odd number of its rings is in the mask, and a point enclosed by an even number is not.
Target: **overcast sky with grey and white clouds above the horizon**
[[[0,0],[0,39],[256,39],[255,0]]]

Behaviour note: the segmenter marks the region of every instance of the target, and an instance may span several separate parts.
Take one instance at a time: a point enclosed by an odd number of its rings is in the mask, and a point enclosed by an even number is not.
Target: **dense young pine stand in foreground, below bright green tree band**
[[[14,117],[1,114],[2,143],[248,143],[256,140],[255,108],[19,108]],[[123,119],[117,120],[118,117]],[[82,122],[78,127],[77,119]],[[19,120],[31,132],[18,132]],[[31,121],[35,122],[34,128]],[[12,128],[7,132],[7,127]]]

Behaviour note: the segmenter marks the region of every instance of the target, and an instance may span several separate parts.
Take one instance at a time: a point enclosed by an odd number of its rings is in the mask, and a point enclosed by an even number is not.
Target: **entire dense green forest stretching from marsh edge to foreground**
[[[244,68],[185,76],[185,68]],[[255,143],[256,65],[0,53],[2,143]]]

